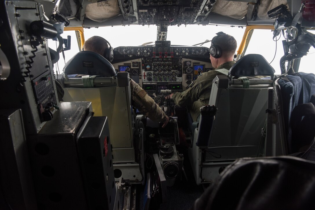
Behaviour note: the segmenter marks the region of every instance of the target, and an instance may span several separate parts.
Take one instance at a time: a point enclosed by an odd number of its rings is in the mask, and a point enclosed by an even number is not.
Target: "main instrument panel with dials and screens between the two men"
[[[128,71],[157,103],[161,90],[186,90],[201,73],[213,70],[209,48],[195,46],[135,46],[114,48],[117,72]],[[115,62],[115,60],[114,60]]]

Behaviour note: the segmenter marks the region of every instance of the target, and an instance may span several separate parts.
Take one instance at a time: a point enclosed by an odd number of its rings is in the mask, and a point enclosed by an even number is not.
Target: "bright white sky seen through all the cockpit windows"
[[[232,35],[239,46],[242,40],[245,27],[230,27],[230,26],[201,26],[201,25],[181,25],[181,26],[169,26],[167,33],[167,40],[171,41],[172,45],[194,45],[202,43],[204,41],[211,40],[215,33],[223,31],[227,34]],[[119,46],[138,46],[143,43],[153,42],[157,38],[157,26],[107,26],[100,28],[84,29],[85,40],[92,36],[104,37],[112,47]],[[65,31],[62,37],[66,38],[67,35],[72,36],[71,50],[65,52],[66,62],[71,59],[77,52],[77,41],[74,31]],[[278,37],[279,38],[279,37]],[[283,36],[277,42],[277,54],[275,59],[272,61],[275,54],[276,43],[272,40],[271,30],[257,30],[255,29],[249,47],[246,50],[246,54],[255,53],[261,54],[265,57],[268,62],[271,62],[272,67],[275,69],[276,74],[280,74],[279,60],[284,55],[282,48]],[[202,46],[210,47],[211,43],[205,43]],[[49,40],[49,47],[56,49],[55,42]],[[300,70],[307,73],[312,73],[314,70],[310,67],[311,60],[315,58],[315,49],[310,49],[310,54],[304,56],[301,61]],[[59,70],[62,72],[65,61],[60,54]],[[54,68],[56,71],[56,68]]]

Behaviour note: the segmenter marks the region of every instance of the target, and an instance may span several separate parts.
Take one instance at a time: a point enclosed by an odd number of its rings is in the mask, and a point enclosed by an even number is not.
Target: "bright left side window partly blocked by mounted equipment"
[[[79,52],[79,47],[77,44],[77,37],[75,31],[64,31],[63,34],[61,34],[61,37],[66,39],[67,36],[71,36],[71,49],[64,51],[65,53],[65,59],[63,58],[62,53],[59,54],[60,58],[57,63],[54,64],[54,72],[58,74],[62,74],[63,67],[65,66],[66,62],[70,60],[75,54]],[[51,39],[48,40],[48,46],[49,48],[52,48],[53,50],[56,50],[59,46],[58,41],[53,41]]]

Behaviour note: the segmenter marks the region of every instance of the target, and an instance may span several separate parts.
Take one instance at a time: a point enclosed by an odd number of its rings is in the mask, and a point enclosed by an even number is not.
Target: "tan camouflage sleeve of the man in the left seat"
[[[154,122],[165,122],[166,115],[146,91],[133,80],[130,81],[131,104],[135,106],[144,116]]]

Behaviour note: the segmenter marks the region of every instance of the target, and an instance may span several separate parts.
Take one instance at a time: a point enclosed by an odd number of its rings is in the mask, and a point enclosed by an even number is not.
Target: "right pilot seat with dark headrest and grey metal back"
[[[259,155],[264,138],[269,88],[274,69],[259,54],[238,60],[228,75],[215,77],[209,106],[201,108],[189,155],[197,184],[211,183],[241,157]],[[259,79],[269,76],[272,79]]]

